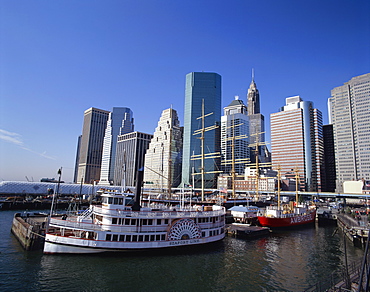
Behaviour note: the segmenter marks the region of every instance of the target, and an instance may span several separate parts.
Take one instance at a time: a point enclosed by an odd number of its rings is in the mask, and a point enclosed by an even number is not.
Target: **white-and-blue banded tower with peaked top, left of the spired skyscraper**
[[[238,96],[224,108],[221,117],[221,169],[223,173],[244,174],[249,163],[249,119],[247,107]],[[233,168],[234,167],[234,168]]]

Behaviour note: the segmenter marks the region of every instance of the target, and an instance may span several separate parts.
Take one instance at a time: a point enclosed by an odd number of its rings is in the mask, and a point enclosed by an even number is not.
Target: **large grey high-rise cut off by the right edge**
[[[370,73],[353,77],[331,91],[336,191],[344,181],[370,180]]]

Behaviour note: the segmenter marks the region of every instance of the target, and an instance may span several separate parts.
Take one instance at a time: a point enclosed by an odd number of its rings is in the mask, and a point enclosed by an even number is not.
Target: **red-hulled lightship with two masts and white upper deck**
[[[316,206],[298,205],[298,170],[296,170],[296,203],[280,207],[280,169],[278,168],[278,205],[268,206],[263,215],[257,216],[261,226],[279,228],[314,223]],[[291,202],[292,203],[292,202]]]

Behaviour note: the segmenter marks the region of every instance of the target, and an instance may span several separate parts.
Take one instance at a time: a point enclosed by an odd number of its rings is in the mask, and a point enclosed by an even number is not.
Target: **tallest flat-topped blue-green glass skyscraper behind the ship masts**
[[[217,73],[192,72],[186,75],[185,108],[184,108],[184,147],[182,160],[182,184],[192,185],[192,173],[199,173],[200,160],[192,160],[193,155],[201,152],[201,141],[194,135],[202,127],[202,104],[204,114],[210,114],[204,119],[205,127],[220,126],[221,121],[221,76]],[[204,133],[205,153],[220,152],[220,129]],[[219,159],[206,159],[204,171],[219,171]],[[205,175],[205,187],[212,188],[217,185],[217,175]],[[194,187],[200,187],[200,176],[194,178]]]

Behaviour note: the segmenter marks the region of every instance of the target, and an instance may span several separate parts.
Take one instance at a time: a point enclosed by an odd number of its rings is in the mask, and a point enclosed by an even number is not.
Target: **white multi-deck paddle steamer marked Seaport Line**
[[[199,245],[225,236],[225,208],[128,207],[122,193],[107,192],[81,215],[51,217],[44,253],[101,253]],[[135,210],[137,209],[137,210]]]

